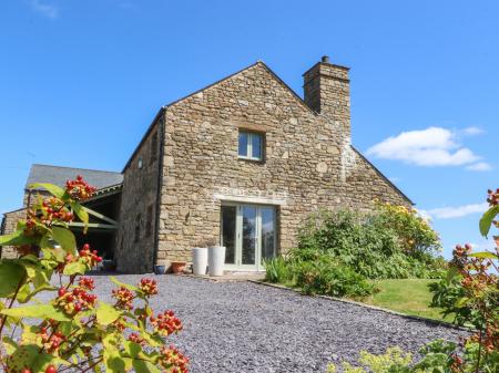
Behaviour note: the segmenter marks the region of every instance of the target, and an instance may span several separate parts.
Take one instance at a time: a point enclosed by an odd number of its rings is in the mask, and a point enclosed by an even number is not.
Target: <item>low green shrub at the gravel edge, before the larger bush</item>
[[[364,298],[375,287],[352,268],[334,262],[323,256],[315,261],[303,261],[297,266],[296,284],[306,294]]]

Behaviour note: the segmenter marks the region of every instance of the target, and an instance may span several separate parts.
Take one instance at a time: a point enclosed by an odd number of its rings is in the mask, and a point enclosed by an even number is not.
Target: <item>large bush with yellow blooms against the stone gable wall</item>
[[[436,258],[430,252],[438,247],[438,240],[417,239],[418,235],[426,237],[429,226],[415,213],[406,213],[408,209],[391,211],[391,205],[383,206],[385,210],[375,214],[350,210],[312,214],[298,232],[298,246],[292,255],[305,261],[327,255],[370,279],[435,277],[439,269],[432,266]],[[404,216],[401,221],[411,221],[411,230],[404,237],[403,229],[394,228],[387,217],[397,214]],[[410,251],[400,244],[407,237],[418,242]]]

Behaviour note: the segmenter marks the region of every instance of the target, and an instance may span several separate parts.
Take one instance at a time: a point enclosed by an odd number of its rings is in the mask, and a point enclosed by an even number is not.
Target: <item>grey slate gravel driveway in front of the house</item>
[[[136,283],[142,276],[118,276]],[[99,293],[113,287],[95,276]],[[416,352],[427,341],[464,332],[378,310],[304,297],[251,282],[155,277],[156,311],[172,309],[184,331],[172,339],[191,359],[192,373],[324,372],[327,363],[354,361],[356,352],[398,345]]]

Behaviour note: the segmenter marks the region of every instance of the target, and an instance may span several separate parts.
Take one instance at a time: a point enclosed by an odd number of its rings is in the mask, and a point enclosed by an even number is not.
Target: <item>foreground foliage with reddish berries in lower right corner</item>
[[[499,215],[499,189],[489,190],[490,207],[480,219],[480,232],[489,234]],[[432,304],[454,313],[455,322],[473,327],[475,331],[459,344],[436,340],[420,350],[422,358],[413,363],[400,349],[386,354],[360,353],[354,367],[344,363],[345,373],[497,373],[499,372],[499,248],[472,252],[470,245],[458,245],[446,278],[431,287]],[[328,372],[336,372],[332,364]]]

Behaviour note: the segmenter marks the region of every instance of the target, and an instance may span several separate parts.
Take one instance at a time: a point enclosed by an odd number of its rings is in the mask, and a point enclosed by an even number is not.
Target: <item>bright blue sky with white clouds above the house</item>
[[[485,242],[499,186],[499,2],[13,0],[0,6],[0,213],[32,163],[121,170],[159,107],[265,61],[348,65],[353,143],[434,219]],[[496,144],[493,139],[496,138]]]

